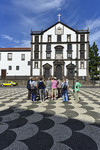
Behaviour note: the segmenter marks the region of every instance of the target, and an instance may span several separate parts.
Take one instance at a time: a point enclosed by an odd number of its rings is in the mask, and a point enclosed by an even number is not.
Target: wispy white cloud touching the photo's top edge
[[[17,0],[12,1],[16,6],[28,9],[34,13],[44,12],[54,8],[61,8],[64,2],[69,3],[69,0]]]

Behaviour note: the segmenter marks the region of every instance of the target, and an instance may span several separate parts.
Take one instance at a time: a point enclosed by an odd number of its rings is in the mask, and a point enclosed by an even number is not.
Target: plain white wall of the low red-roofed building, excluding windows
[[[6,76],[30,76],[30,61],[31,52],[19,52],[19,51],[3,51],[1,52],[0,60],[0,76],[1,70],[6,70]],[[8,60],[8,53],[12,53],[12,60]],[[21,54],[25,54],[25,60],[21,60]],[[12,70],[9,70],[9,66],[12,66]],[[19,66],[19,70],[16,70],[16,66]]]

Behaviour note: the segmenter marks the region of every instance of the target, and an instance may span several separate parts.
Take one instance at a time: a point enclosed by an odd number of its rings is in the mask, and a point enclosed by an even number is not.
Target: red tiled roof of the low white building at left
[[[14,47],[14,48],[0,48],[0,51],[24,51],[24,50],[31,50],[30,47]]]

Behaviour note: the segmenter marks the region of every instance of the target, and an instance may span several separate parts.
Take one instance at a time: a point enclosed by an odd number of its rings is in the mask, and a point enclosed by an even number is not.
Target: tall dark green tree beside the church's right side
[[[99,56],[99,49],[95,42],[90,47],[89,46],[89,74],[90,77],[94,78],[99,75],[99,71],[97,70],[97,67],[100,65],[100,56]]]

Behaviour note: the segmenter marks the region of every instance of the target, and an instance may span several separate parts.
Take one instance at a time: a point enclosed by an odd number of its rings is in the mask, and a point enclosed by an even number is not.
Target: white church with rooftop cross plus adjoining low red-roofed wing
[[[31,48],[0,48],[0,77],[89,76],[89,30],[75,30],[59,20],[44,31],[31,30]],[[19,66],[19,67],[18,67]]]

